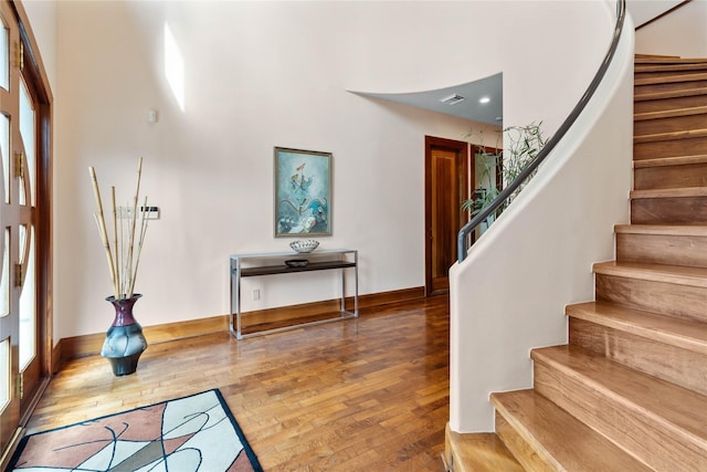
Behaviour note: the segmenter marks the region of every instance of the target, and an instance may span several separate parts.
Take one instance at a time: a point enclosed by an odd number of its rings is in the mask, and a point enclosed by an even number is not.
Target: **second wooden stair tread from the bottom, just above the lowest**
[[[534,449],[557,462],[553,470],[651,470],[534,390],[492,394],[492,402]]]

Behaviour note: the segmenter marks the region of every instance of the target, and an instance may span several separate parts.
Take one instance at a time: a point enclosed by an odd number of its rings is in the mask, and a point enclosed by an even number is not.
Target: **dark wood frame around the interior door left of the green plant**
[[[433,188],[433,172],[432,172],[432,153],[435,149],[447,150],[456,154],[456,188],[450,188],[449,191],[458,195],[457,213],[458,220],[455,222],[460,228],[468,220],[468,212],[461,209],[461,204],[468,198],[468,143],[458,141],[453,139],[439,138],[433,136],[425,136],[425,171],[424,171],[424,187],[425,187],[425,295],[430,296],[439,291],[433,289],[433,241],[432,241],[432,224],[433,224],[433,201],[432,195]],[[450,235],[452,237],[452,235]],[[454,235],[455,237],[455,235]],[[456,245],[454,245],[454,258],[456,259]]]

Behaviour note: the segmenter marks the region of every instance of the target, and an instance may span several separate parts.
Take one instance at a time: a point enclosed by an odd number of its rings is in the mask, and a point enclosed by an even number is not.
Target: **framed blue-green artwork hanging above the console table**
[[[275,237],[331,234],[331,153],[275,148]]]

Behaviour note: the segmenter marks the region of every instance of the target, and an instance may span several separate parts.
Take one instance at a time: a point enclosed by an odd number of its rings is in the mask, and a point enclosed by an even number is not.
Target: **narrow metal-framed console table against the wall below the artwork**
[[[302,260],[300,265],[287,265],[285,261]],[[287,326],[263,329],[254,333],[243,333],[241,312],[241,279],[266,276],[275,274],[306,274],[312,271],[335,270],[341,276],[341,306],[340,316],[317,319],[304,323],[296,323]],[[346,306],[346,270],[354,271],[354,310]],[[323,249],[310,253],[299,254],[296,252],[264,252],[255,254],[231,255],[231,313],[230,329],[236,339],[251,336],[260,336],[268,333],[277,333],[286,329],[295,329],[302,326],[338,322],[342,319],[358,317],[358,251],[352,249]]]

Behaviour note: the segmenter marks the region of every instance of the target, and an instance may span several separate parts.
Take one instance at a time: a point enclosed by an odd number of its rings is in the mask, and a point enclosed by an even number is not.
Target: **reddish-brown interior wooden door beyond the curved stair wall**
[[[468,145],[425,137],[425,294],[449,292],[456,262],[456,238],[467,221],[462,202],[468,196]]]

